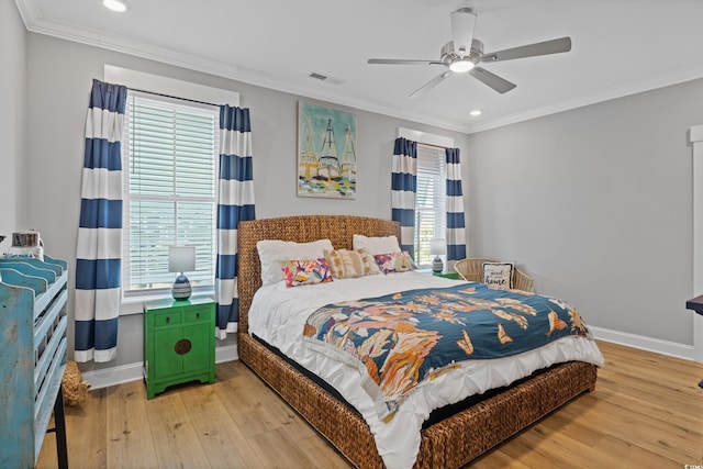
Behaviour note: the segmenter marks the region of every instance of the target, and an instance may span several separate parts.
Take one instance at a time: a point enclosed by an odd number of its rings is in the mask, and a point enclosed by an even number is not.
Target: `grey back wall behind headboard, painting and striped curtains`
[[[352,214],[390,219],[391,154],[397,127],[432,132],[454,138],[466,148],[468,136],[370,112],[357,114],[357,198],[328,200],[298,198],[298,96],[186,70],[120,53],[29,34],[29,221],[42,233],[45,252],[75,266],[80,209],[80,177],[85,121],[93,78],[103,78],[103,65],[161,75],[231,89],[241,105],[250,109],[256,215]],[[326,85],[322,85],[326,86]],[[74,287],[72,276],[69,288]],[[69,316],[72,290],[69,290]],[[69,317],[72,323],[72,316]],[[102,369],[142,361],[142,317],[122,316],[114,362],[87,365]],[[69,330],[69,350],[72,328]]]

